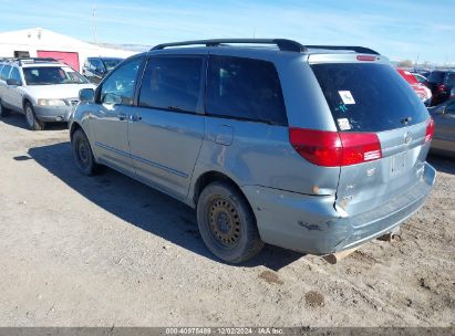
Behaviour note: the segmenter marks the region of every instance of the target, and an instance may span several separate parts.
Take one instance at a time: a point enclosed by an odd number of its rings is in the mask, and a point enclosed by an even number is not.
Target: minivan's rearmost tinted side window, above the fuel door
[[[285,99],[273,63],[210,55],[206,114],[286,126]]]

